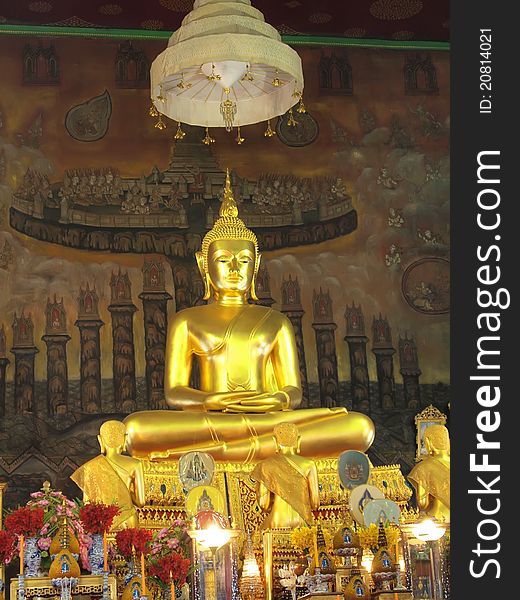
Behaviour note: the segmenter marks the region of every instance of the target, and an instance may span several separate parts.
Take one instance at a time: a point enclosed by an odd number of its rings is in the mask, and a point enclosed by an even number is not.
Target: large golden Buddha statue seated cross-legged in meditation
[[[374,425],[340,408],[295,411],[302,399],[293,326],[256,300],[260,265],[256,235],[238,217],[229,173],[220,216],[197,263],[211,302],[178,312],[168,327],[165,396],[177,411],[142,411],[125,419],[128,450],[139,458],[179,458],[190,450],[216,460],[250,462],[275,454],[278,423],[292,422],[302,456],[364,452]],[[197,360],[200,389],[190,387]]]

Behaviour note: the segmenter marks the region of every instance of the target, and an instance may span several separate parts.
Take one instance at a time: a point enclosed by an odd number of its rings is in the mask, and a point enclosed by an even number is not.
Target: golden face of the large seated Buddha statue
[[[208,274],[220,293],[244,294],[252,285],[256,253],[252,242],[217,240],[208,248]]]

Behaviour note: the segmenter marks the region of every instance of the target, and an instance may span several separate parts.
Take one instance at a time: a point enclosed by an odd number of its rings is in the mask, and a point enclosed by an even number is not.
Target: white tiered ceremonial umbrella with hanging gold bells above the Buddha
[[[269,120],[285,114],[303,93],[298,53],[250,0],[195,0],[153,61],[150,78],[150,114],[157,116],[156,110],[176,121],[176,139],[184,137],[182,123],[237,127],[237,142],[243,141],[243,125],[267,121],[272,132]],[[204,141],[214,141],[208,131]]]

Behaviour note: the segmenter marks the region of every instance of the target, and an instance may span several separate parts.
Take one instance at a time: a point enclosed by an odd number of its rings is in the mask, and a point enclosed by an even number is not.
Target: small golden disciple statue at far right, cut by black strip
[[[430,517],[450,520],[450,436],[444,425],[430,425],[424,432],[428,457],[408,475],[419,508]]]

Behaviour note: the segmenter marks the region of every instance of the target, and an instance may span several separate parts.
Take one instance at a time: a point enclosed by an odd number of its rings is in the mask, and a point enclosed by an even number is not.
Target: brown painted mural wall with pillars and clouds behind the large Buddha
[[[163,405],[166,320],[201,301],[226,168],[306,405],[371,414],[374,462],[409,469],[413,416],[449,400],[448,53],[298,47],[296,125],[206,145],[148,114],[163,46],[0,39],[0,475],[70,489],[105,415]]]

